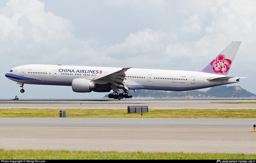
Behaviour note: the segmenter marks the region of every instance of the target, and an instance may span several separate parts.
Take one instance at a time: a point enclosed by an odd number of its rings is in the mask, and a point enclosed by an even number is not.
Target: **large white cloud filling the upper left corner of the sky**
[[[71,32],[75,29],[72,23],[51,12],[44,11],[44,3],[38,0],[10,0],[6,7],[0,12],[0,29],[4,36],[12,35],[12,32],[26,33],[29,31],[35,43],[47,46],[56,46],[65,43],[64,40],[74,37]],[[23,39],[22,35],[17,35],[15,39]]]

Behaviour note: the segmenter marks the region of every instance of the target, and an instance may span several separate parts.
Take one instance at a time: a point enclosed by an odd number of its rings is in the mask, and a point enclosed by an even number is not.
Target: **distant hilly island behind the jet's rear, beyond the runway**
[[[153,98],[178,98],[184,97],[185,95],[191,95],[193,98],[241,98],[249,97],[255,98],[256,94],[250,93],[245,89],[242,89],[240,86],[217,86],[211,87],[206,92],[191,90],[186,92],[175,92],[175,91],[158,91],[158,90],[136,90],[130,91],[129,94],[133,97],[153,97]],[[108,94],[104,98],[108,97]]]

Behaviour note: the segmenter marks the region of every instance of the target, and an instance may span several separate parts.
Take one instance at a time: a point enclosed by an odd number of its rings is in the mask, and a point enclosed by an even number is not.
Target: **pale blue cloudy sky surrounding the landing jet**
[[[24,64],[201,71],[242,41],[229,76],[256,94],[255,0],[1,0],[0,99],[88,99],[70,86],[25,84],[4,74]],[[205,89],[203,89],[205,90]]]

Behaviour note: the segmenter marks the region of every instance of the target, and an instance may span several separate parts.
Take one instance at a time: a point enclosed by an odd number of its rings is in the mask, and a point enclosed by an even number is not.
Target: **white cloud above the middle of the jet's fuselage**
[[[170,44],[174,34],[152,29],[140,30],[135,34],[129,34],[124,43],[115,44],[106,50],[109,56],[120,55],[122,58],[134,56],[152,57],[163,55]]]

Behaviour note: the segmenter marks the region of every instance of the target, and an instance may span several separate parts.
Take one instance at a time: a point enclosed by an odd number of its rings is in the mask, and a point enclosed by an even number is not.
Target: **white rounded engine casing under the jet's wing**
[[[72,90],[74,92],[92,92],[92,90],[96,89],[96,84],[91,80],[84,78],[76,78],[72,81]]]

